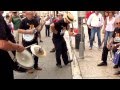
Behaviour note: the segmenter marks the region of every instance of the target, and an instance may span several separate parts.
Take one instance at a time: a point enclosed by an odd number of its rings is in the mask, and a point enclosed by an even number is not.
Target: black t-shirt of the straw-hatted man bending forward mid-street
[[[63,38],[63,35],[64,35],[63,27],[66,27],[67,29],[68,24],[64,22],[64,19],[62,19],[62,20],[59,20],[58,22],[55,22],[54,25],[58,33],[57,34],[53,33],[53,38],[59,38],[59,39]]]

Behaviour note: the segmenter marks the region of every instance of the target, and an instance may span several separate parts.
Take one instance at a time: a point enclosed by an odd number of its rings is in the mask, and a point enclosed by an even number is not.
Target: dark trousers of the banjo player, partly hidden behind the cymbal
[[[32,44],[34,44],[34,43],[37,43],[37,44],[38,44],[38,41],[35,40],[35,41],[33,41],[33,42],[29,42],[29,43],[23,41],[23,46],[26,47],[26,46],[32,45]],[[32,54],[30,48],[27,48],[27,50]],[[38,67],[38,57],[35,56],[35,55],[33,55],[33,58],[34,58],[34,68],[37,68],[37,67]]]

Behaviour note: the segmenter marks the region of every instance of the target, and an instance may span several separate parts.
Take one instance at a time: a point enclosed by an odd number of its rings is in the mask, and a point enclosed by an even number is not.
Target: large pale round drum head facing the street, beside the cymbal
[[[20,64],[21,67],[31,68],[34,65],[32,54],[28,52],[27,50],[24,50],[21,53],[16,52],[16,58],[17,58],[18,64]]]

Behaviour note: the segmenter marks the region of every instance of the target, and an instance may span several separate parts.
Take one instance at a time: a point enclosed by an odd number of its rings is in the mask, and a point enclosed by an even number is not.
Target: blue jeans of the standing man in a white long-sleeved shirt
[[[101,35],[100,35],[100,27],[93,27],[91,29],[91,37],[90,37],[90,47],[93,47],[93,41],[94,41],[94,37],[95,37],[95,33],[97,33],[97,37],[98,37],[98,46],[101,46]]]

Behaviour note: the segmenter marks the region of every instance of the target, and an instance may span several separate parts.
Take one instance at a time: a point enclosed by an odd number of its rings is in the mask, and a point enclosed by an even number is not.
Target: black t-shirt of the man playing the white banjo
[[[20,24],[20,27],[19,29],[29,29],[30,28],[30,25],[33,25],[33,27],[37,27],[39,25],[38,21],[34,18],[32,20],[28,20],[27,18],[23,19],[21,24]],[[34,43],[37,43],[37,37],[38,37],[38,32],[35,34],[35,38],[32,42],[25,42],[23,40],[23,45],[24,46],[28,46],[28,45],[31,45],[31,44],[34,44]]]

